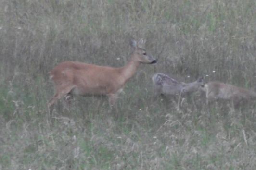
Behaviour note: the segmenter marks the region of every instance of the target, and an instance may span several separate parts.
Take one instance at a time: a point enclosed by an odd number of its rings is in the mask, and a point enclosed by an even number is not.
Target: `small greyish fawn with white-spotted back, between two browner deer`
[[[204,86],[204,78],[200,77],[195,82],[192,83],[183,83],[179,82],[166,74],[156,73],[152,77],[154,85],[154,96],[158,95],[168,95],[176,96],[179,95],[184,99],[185,95],[190,95],[193,92],[200,90],[200,87]],[[181,102],[182,104],[182,102]],[[178,101],[179,108],[179,101]]]

